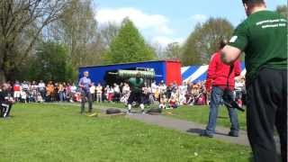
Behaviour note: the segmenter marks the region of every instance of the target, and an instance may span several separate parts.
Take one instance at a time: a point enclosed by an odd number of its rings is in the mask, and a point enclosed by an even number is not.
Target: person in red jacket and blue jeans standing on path
[[[220,49],[228,43],[227,40],[220,41]],[[233,98],[234,78],[241,72],[240,62],[236,61],[233,66],[224,64],[220,59],[220,52],[211,56],[211,62],[208,67],[207,80],[205,84],[206,92],[211,93],[209,121],[206,130],[201,136],[212,138],[215,133],[216,121],[218,117],[218,108],[224,95]],[[225,102],[225,101],[224,101]],[[236,109],[228,108],[231,127],[229,136],[238,137],[238,115]]]

